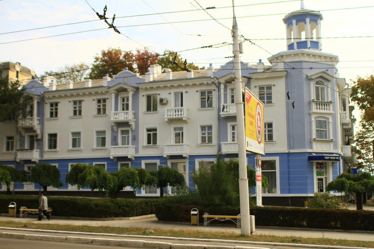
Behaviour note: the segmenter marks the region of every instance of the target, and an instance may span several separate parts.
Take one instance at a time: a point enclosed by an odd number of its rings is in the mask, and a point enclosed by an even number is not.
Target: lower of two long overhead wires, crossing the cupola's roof
[[[230,6],[230,7],[232,7],[232,6]],[[347,10],[347,9],[363,9],[363,8],[372,8],[372,7],[374,7],[374,6],[350,7],[350,8],[327,9],[327,10],[313,10],[313,11],[310,11],[310,12],[315,12],[315,11],[335,11],[335,10]],[[294,12],[294,13],[298,13],[298,12]],[[308,13],[308,12],[303,12],[303,13]],[[288,14],[288,13],[276,13],[276,14],[264,14],[264,15],[252,15],[252,16],[236,16],[236,18],[237,19],[238,18],[251,18],[251,17],[258,17],[258,16],[274,16],[274,15],[286,15],[286,14]],[[225,19],[232,19],[232,17],[228,17],[228,18],[215,18],[215,20],[225,20]],[[212,19],[200,19],[200,20],[188,20],[188,21],[176,21],[176,22],[160,22],[160,23],[151,23],[151,24],[125,25],[125,26],[118,26],[117,28],[131,28],[131,27],[142,27],[142,26],[150,26],[150,25],[163,25],[163,24],[175,24],[175,23],[186,23],[186,22],[202,22],[202,21],[212,21]],[[90,32],[90,31],[98,31],[98,30],[107,30],[107,28],[101,28],[101,29],[95,29],[95,30],[86,30],[86,31],[77,31],[77,32],[73,32],[73,33],[65,33],[65,34],[58,34],[58,35],[52,35],[52,36],[30,38],[30,39],[24,39],[24,40],[16,40],[16,41],[12,41],[12,42],[3,42],[3,43],[0,43],[0,45],[1,44],[15,43],[15,42],[25,42],[25,41],[36,40],[36,39],[44,39],[44,38],[50,38],[50,37],[56,37],[56,36],[64,36],[64,35],[69,35],[69,34],[78,34],[78,33]],[[188,34],[188,35],[194,35],[194,34]],[[199,35],[197,34],[197,36],[199,36]],[[362,37],[365,37],[365,36],[362,36]],[[371,36],[368,36],[368,37],[371,37]],[[342,37],[342,38],[344,38],[344,37]],[[354,37],[352,37],[352,38],[354,38]]]

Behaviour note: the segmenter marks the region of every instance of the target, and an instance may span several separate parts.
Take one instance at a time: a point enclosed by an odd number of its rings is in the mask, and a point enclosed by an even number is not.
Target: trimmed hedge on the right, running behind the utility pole
[[[240,213],[239,206],[200,207],[165,201],[154,203],[156,217],[163,221],[190,222],[192,208],[199,210],[201,223],[204,222],[202,215],[205,212],[212,215],[238,215]],[[250,213],[255,216],[256,225],[260,226],[374,231],[374,212],[368,210],[252,207]]]

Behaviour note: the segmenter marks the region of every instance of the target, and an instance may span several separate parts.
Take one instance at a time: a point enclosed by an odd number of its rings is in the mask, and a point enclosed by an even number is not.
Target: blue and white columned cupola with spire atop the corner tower
[[[321,20],[321,12],[305,9],[304,0],[301,0],[300,10],[283,18],[286,25],[287,50],[321,50]]]

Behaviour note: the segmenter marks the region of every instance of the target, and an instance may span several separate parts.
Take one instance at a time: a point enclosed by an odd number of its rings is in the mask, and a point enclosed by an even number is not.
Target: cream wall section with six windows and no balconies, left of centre
[[[102,92],[85,89],[89,94],[77,94],[64,97],[46,98],[45,128],[44,128],[44,159],[53,158],[93,158],[109,157],[110,154],[110,111],[111,96],[106,90]],[[96,99],[106,98],[105,115],[96,115]],[[73,101],[82,100],[82,117],[73,117]],[[49,119],[49,103],[59,102],[58,118]],[[106,130],[105,148],[95,148],[95,130]],[[81,132],[81,150],[71,150],[70,132]],[[57,132],[57,150],[47,150],[47,133]]]

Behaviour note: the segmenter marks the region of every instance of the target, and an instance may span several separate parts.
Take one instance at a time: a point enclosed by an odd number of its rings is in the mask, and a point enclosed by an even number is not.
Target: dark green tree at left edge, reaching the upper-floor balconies
[[[25,110],[30,95],[24,95],[26,88],[19,88],[19,82],[8,82],[0,70],[0,122],[15,121],[22,110]]]

